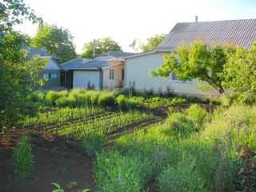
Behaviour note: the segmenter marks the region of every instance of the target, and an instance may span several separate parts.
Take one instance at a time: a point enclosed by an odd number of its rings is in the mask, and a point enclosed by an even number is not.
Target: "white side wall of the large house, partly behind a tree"
[[[168,53],[154,53],[147,54],[135,58],[126,58],[125,64],[125,87],[129,86],[129,82],[135,81],[135,88],[137,90],[147,90],[153,87],[158,90],[161,86],[162,90],[166,90],[166,86],[170,83],[177,94],[187,94],[194,96],[203,96],[205,94],[218,95],[217,90],[202,91],[194,89],[198,85],[197,80],[192,82],[173,82],[170,78],[154,78],[150,76],[150,70],[156,70],[161,64],[164,63],[163,56]]]

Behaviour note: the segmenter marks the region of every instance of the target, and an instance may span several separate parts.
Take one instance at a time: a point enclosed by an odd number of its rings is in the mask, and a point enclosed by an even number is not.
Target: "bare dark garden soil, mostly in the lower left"
[[[189,104],[181,104],[178,109],[186,108]],[[213,110],[214,106],[202,105],[206,110]],[[154,110],[154,121],[134,123],[114,131],[108,135],[112,146],[126,130],[142,129],[152,123],[161,122],[167,116],[167,107]],[[30,134],[34,154],[33,171],[29,178],[14,178],[12,151],[21,134]],[[65,138],[52,134],[44,129],[39,130],[11,130],[8,134],[0,134],[0,191],[1,192],[34,192],[52,191],[51,182],[57,182],[65,191],[81,192],[89,188],[96,191],[93,180],[92,159],[82,149],[81,141],[75,138]],[[77,182],[78,186],[69,186],[70,182]],[[150,182],[150,191],[157,191],[155,181]]]

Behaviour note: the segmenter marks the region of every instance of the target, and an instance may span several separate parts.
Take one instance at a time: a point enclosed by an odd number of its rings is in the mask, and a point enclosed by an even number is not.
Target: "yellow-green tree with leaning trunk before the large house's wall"
[[[220,94],[224,94],[222,82],[223,68],[228,62],[228,54],[234,51],[231,45],[209,46],[202,39],[191,44],[183,44],[178,47],[177,54],[164,57],[162,64],[156,71],[151,71],[154,77],[169,77],[174,72],[183,81],[197,78],[199,82],[207,82],[207,85],[197,86],[201,90],[215,88]]]

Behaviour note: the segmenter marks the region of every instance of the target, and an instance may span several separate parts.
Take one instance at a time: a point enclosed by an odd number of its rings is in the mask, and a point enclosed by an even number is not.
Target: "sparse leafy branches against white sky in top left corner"
[[[11,32],[14,25],[22,24],[23,19],[28,19],[33,23],[42,20],[22,0],[4,0],[0,2],[0,10],[0,33]]]

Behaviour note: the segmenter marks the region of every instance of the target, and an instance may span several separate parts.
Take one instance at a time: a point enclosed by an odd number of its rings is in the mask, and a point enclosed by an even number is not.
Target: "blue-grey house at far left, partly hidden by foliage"
[[[49,62],[47,63],[42,73],[39,74],[41,78],[46,78],[46,82],[43,86],[36,86],[36,89],[43,89],[43,90],[53,90],[61,86],[61,67],[58,65],[57,60],[59,58],[48,54],[45,48],[42,50],[38,50],[33,46],[30,48],[26,48],[28,52],[28,56],[33,58],[34,55],[39,55],[42,58],[49,58]]]

